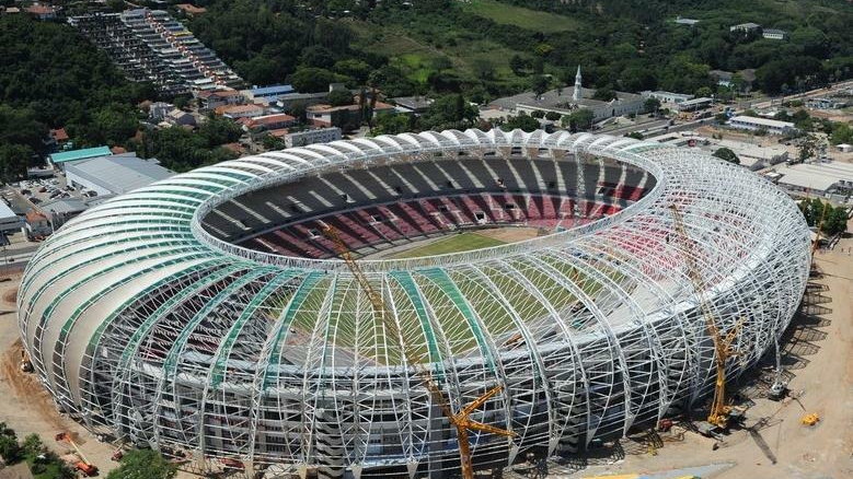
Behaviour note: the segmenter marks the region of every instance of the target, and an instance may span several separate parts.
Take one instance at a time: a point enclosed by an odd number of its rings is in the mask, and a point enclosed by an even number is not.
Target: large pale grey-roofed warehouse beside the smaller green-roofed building
[[[97,196],[123,195],[174,175],[157,160],[142,160],[136,153],[97,156],[66,166],[66,179],[76,188]]]

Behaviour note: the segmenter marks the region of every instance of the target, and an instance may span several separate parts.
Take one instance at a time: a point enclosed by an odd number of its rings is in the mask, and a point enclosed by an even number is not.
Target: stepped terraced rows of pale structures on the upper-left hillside
[[[192,32],[162,10],[71,16],[131,81],[150,81],[165,94],[241,87],[243,80]]]

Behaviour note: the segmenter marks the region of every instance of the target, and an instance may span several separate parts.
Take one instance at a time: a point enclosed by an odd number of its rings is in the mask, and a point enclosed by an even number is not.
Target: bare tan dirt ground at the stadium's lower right
[[[853,226],[853,224],[849,225]],[[714,440],[687,432],[681,442],[658,441],[620,447],[620,453],[581,471],[549,477],[654,471],[731,463],[715,479],[842,479],[853,477],[853,238],[817,255],[822,272],[812,279],[805,307],[792,322],[782,363],[794,399],[771,401],[756,383],[740,392],[756,405],[746,428],[733,431],[714,451]],[[765,376],[766,378],[766,376]],[[765,388],[764,388],[765,390]],[[820,422],[800,419],[817,412]],[[750,431],[751,429],[751,431]],[[626,442],[627,444],[637,444]],[[762,445],[764,449],[762,451]]]

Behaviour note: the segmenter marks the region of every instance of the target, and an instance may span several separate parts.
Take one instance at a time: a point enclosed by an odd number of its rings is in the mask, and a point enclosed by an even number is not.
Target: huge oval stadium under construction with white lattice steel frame
[[[401,344],[454,409],[503,386],[471,417],[516,435],[472,432],[476,468],[570,454],[701,406],[715,377],[702,302],[737,332],[729,374],[754,364],[797,308],[809,246],[784,192],[696,150],[380,136],[201,167],[87,211],[30,262],[19,320],[59,408],[96,433],[211,472],[448,477],[456,430]]]

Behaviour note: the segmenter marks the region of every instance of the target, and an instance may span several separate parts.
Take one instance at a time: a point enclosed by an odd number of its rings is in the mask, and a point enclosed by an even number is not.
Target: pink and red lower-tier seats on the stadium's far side
[[[633,188],[619,189],[624,199],[641,195]],[[638,196],[637,196],[638,197]],[[477,225],[527,225],[568,229],[613,214],[618,205],[591,200],[575,201],[550,195],[472,194],[418,198],[291,223],[242,242],[267,253],[309,258],[335,256],[335,248],[320,232],[334,226],[353,250],[369,252],[382,243],[416,240]]]

